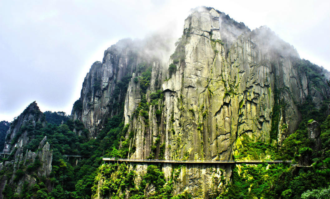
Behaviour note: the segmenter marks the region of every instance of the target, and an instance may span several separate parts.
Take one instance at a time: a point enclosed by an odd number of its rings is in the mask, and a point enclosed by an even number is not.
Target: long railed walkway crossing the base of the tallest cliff
[[[118,161],[118,162],[159,162],[159,163],[291,163],[292,160],[171,160],[171,159],[123,159],[123,158],[110,158],[103,157],[104,161]]]

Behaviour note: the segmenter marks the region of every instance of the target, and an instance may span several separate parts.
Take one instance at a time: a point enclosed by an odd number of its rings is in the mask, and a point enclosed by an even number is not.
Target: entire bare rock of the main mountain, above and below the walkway
[[[125,96],[120,147],[128,145],[129,158],[229,160],[240,155],[243,141],[281,147],[301,121],[299,105],[310,99],[319,108],[330,96],[325,81],[315,84],[295,49],[267,27],[250,31],[211,8],[185,20],[169,65],[161,57],[132,58],[133,44],[122,45],[94,63],[83,84],[82,110],[72,115],[97,134],[102,120],[116,114],[115,99]],[[127,92],[115,92],[123,74],[131,76]],[[93,79],[101,79],[97,91]],[[129,169],[139,185],[147,165]],[[215,197],[231,176],[231,167],[219,164],[163,164],[162,170],[167,180],[176,179],[176,194],[188,191],[194,198]]]

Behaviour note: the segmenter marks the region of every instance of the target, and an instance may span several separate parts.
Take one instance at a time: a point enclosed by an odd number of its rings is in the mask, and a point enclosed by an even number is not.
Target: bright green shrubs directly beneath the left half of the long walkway
[[[165,182],[164,173],[156,165],[148,166],[139,186],[134,184],[135,177],[136,174],[125,163],[104,164],[98,168],[98,175],[92,187],[93,196],[100,194],[103,197],[123,198],[124,190],[129,190],[130,199],[146,199],[144,191],[147,186],[152,186],[155,192],[151,193],[149,199],[191,199],[187,192],[173,196],[173,181]],[[97,192],[101,180],[103,184]]]

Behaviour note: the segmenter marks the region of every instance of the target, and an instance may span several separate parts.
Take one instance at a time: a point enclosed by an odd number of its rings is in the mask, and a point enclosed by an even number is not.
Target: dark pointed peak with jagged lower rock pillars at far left
[[[47,137],[40,142],[38,151],[24,150],[33,139],[36,126],[45,127],[46,121],[37,103],[32,102],[12,123],[7,131],[3,153],[5,156],[13,156],[13,160],[0,163],[2,178],[0,179],[0,193],[5,186],[14,186],[14,193],[20,194],[25,183],[36,183],[35,174],[38,177],[49,177],[53,150],[47,142]],[[11,155],[8,155],[11,154]],[[0,194],[0,199],[4,197]]]

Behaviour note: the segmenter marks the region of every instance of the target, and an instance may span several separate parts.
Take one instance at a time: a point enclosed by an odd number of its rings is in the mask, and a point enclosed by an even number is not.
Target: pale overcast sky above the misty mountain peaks
[[[189,10],[202,5],[251,30],[267,25],[301,58],[330,70],[329,0],[1,0],[0,121],[35,100],[42,111],[70,114],[90,66],[110,45],[155,31],[179,38]]]

